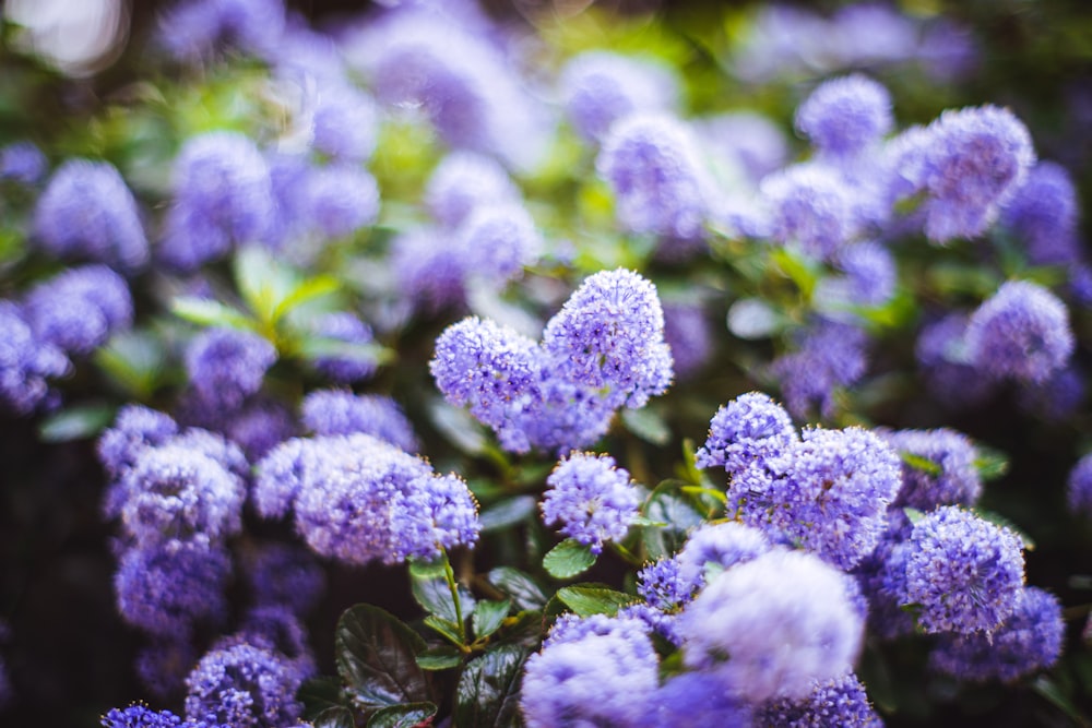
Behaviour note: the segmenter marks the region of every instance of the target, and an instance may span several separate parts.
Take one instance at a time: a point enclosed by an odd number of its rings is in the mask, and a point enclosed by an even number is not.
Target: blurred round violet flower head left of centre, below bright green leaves
[[[262,386],[276,349],[258,334],[236,329],[206,329],[186,348],[186,373],[206,402],[236,408]]]

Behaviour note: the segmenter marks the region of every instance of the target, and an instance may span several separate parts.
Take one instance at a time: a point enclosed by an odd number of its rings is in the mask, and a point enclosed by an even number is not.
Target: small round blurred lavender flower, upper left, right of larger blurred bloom
[[[336,164],[311,169],[300,203],[311,227],[329,238],[351,235],[379,217],[376,178],[355,166]]]

